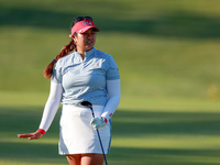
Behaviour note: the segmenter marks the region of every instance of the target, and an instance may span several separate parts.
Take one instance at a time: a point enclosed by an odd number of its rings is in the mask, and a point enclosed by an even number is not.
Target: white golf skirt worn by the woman
[[[100,117],[103,106],[94,106],[95,117]],[[90,124],[91,110],[85,107],[63,105],[59,121],[59,154],[102,154],[97,131]],[[100,128],[99,134],[105,154],[109,154],[111,143],[111,122]]]

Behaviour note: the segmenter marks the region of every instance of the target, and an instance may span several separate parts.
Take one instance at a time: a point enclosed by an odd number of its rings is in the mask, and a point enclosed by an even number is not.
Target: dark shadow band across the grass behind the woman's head
[[[16,9],[0,7],[0,25],[36,26],[44,29],[70,30],[72,21],[79,13],[63,13],[38,9]],[[220,38],[220,18],[206,16],[190,12],[164,13],[145,20],[117,20],[95,15],[95,22],[101,31],[128,32],[164,37]],[[116,15],[116,16],[113,16]],[[146,16],[148,18],[148,16]]]

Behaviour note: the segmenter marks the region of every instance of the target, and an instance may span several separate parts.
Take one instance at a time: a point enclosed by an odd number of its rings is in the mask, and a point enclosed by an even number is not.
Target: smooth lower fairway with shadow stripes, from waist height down
[[[46,97],[37,92],[0,94],[0,164],[67,164],[57,154],[59,112],[43,139],[16,138],[37,129]],[[109,164],[220,164],[219,107],[212,100],[122,97],[112,119]]]

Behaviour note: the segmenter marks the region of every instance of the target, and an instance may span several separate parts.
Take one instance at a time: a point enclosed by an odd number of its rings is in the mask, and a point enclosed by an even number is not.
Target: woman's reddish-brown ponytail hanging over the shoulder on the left
[[[72,38],[72,41],[62,48],[61,53],[44,69],[44,77],[50,79],[52,77],[52,74],[53,74],[54,64],[59,58],[66,56],[69,52],[74,51],[75,48],[76,48],[76,44],[75,44],[74,40]]]

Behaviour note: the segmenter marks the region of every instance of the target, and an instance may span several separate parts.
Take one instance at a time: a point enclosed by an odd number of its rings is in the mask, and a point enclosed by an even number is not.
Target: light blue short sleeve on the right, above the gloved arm
[[[107,80],[120,79],[119,68],[112,56],[110,56],[109,64],[110,66],[107,70]]]

